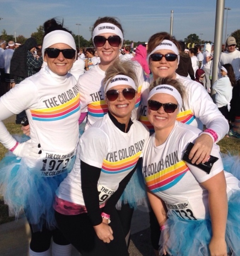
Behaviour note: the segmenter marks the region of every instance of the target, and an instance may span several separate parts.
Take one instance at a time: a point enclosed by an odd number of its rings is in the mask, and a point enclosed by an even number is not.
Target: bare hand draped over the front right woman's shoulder
[[[211,136],[203,133],[194,143],[192,150],[189,153],[189,159],[192,159],[192,163],[200,164],[205,163],[209,157],[213,147],[213,140]]]

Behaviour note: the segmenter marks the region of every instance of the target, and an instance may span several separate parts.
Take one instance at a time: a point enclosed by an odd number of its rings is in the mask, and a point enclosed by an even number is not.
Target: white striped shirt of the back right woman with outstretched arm
[[[221,140],[228,132],[229,126],[227,120],[218,110],[211,97],[206,92],[204,87],[184,76],[176,74],[176,80],[179,81],[186,91],[186,98],[183,101],[181,112],[177,115],[177,121],[190,124],[203,130],[203,124],[207,128],[212,129],[218,135],[218,140]],[[147,98],[149,93],[150,79],[145,80],[141,92],[141,113],[140,121],[150,128],[150,133],[154,132],[153,126],[147,119]]]

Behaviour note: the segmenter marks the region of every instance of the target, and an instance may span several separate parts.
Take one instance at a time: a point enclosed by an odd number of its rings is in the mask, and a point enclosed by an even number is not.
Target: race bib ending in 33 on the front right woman
[[[193,214],[193,209],[189,204],[188,200],[174,204],[165,202],[165,204],[168,209],[168,212],[171,215],[176,215],[181,220],[197,220],[197,218],[195,218]]]

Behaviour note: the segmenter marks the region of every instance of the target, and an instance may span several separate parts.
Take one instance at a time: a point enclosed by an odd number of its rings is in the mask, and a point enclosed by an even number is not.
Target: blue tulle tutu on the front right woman
[[[228,219],[226,227],[226,242],[228,255],[240,255],[240,190],[235,191],[228,202]],[[207,256],[210,255],[208,245],[212,237],[211,221],[182,221],[171,216],[167,221],[169,228],[161,232],[159,255],[163,254],[165,245],[169,255]],[[164,237],[169,236],[164,243]]]

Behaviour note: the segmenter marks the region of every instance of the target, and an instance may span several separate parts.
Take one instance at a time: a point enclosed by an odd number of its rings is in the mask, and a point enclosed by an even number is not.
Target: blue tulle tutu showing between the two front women
[[[117,210],[121,210],[122,204],[129,204],[131,208],[149,211],[146,185],[142,176],[141,165],[137,166],[127,187],[116,204]]]

